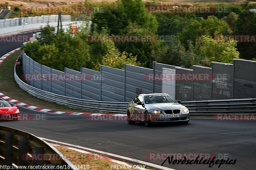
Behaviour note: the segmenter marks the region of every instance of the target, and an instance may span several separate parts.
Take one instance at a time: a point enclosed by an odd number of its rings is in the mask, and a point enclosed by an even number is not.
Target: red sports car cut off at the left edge
[[[20,118],[20,110],[13,107],[6,101],[0,100],[0,121],[18,120]]]

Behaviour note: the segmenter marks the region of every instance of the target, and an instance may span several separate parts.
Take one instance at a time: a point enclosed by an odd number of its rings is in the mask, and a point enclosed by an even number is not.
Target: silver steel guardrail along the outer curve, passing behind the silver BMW
[[[29,94],[60,105],[66,105],[68,107],[100,112],[125,113],[126,106],[128,104],[127,102],[104,102],[76,99],[46,92],[23,82],[17,76],[15,68],[14,78],[20,88]],[[256,99],[184,101],[182,104],[189,108],[192,115],[212,113],[256,113]]]

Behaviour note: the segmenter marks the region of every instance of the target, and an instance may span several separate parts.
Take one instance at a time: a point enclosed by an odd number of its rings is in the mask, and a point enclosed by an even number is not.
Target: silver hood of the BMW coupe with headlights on
[[[152,103],[146,104],[145,107],[148,110],[175,110],[175,109],[184,109],[185,106],[181,105],[180,103]]]

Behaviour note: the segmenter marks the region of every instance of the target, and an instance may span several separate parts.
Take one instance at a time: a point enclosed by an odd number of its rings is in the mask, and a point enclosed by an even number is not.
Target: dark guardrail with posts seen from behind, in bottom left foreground
[[[7,169],[15,169],[12,166],[23,166],[20,169],[28,169],[28,166],[47,167],[49,165],[52,166],[51,169],[78,170],[57,149],[38,137],[18,129],[0,126],[0,151],[0,165],[10,167]],[[32,157],[36,155],[36,158],[39,158],[39,154],[42,154],[39,160]],[[42,159],[45,158],[44,155],[54,159]]]

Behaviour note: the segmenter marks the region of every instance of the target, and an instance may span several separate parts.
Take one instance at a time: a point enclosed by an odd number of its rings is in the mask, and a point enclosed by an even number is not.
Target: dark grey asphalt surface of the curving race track
[[[1,55],[20,44],[0,43]],[[8,48],[7,48],[8,47]],[[0,122],[16,128],[69,144],[139,159],[161,165],[164,160],[151,160],[150,153],[228,154],[235,165],[169,165],[173,169],[256,169],[255,121],[216,121],[191,119],[186,125],[171,124],[145,127],[129,125],[126,120],[97,121],[91,116],[45,114],[20,107],[28,120]],[[32,117],[39,120],[32,120]],[[221,159],[221,158],[220,158]]]

